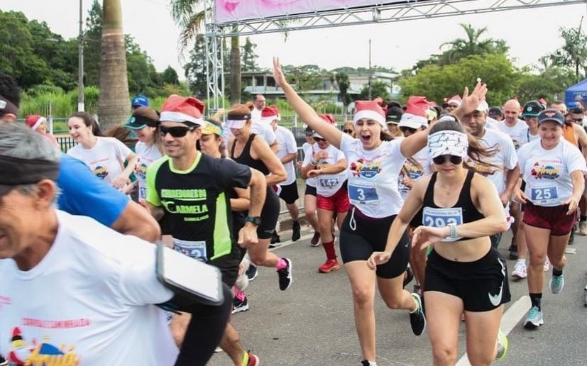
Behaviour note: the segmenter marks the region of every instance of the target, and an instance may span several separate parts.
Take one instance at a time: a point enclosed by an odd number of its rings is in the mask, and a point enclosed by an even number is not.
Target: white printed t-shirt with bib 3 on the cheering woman
[[[361,140],[342,134],[341,150],[349,167],[349,201],[368,217],[392,216],[402,208],[397,179],[405,156],[400,142],[383,141],[378,148],[365,150]]]

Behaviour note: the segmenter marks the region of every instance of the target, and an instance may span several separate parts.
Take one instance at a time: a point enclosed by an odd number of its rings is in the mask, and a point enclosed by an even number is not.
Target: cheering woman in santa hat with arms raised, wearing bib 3
[[[282,73],[278,58],[273,60],[273,77],[283,89],[287,101],[308,126],[317,131],[349,162],[348,192],[351,208],[341,228],[340,251],[351,282],[356,331],[363,355],[363,366],[375,362],[375,285],[391,309],[410,311],[412,331],[419,336],[426,321],[418,294],[403,289],[403,274],[410,257],[407,235],[393,251],[390,261],[375,271],[367,265],[371,253],[383,250],[391,223],[403,204],[397,179],[405,157],[415,155],[427,145],[427,131],[417,132],[402,140],[384,140],[385,113],[375,101],[356,101],[353,122],[357,138],[324,123],[291,87]],[[463,103],[454,113],[473,111],[487,88],[478,83],[471,96],[463,94]],[[382,235],[382,233],[385,233]]]

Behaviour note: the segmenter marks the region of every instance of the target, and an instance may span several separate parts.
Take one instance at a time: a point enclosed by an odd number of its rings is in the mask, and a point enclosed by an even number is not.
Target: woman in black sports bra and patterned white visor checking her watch
[[[432,248],[422,290],[434,365],[456,363],[463,311],[468,359],[471,365],[489,365],[508,348],[499,328],[503,304],[510,301],[508,271],[489,240],[507,228],[503,206],[490,180],[463,164],[463,157],[487,152],[456,118],[443,117],[432,127],[428,150],[437,172],[415,183],[393,221],[385,251],[373,253],[368,265],[374,269],[389,260],[422,208],[423,223],[412,245]]]

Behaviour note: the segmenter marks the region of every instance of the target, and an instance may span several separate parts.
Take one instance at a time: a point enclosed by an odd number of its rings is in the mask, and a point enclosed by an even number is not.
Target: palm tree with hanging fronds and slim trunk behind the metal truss
[[[182,48],[195,38],[204,24],[204,11],[202,0],[171,0],[171,16],[182,28],[180,44]],[[230,74],[231,74],[231,104],[241,101],[241,46],[238,35],[231,37],[230,50]]]

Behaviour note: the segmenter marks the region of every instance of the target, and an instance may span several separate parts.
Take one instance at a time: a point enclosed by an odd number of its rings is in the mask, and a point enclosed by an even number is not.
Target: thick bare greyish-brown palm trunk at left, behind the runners
[[[126,74],[126,45],[122,31],[121,0],[104,0],[102,5],[102,60],[98,117],[102,131],[124,123],[131,111]]]

